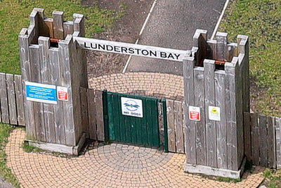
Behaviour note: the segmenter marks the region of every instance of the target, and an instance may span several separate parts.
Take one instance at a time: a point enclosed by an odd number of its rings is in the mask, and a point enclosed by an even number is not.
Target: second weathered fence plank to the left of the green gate
[[[88,122],[90,139],[97,139],[96,135],[96,110],[95,110],[95,94],[93,89],[87,89],[88,102]]]

